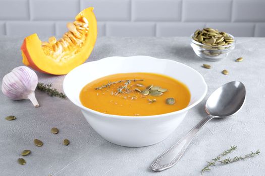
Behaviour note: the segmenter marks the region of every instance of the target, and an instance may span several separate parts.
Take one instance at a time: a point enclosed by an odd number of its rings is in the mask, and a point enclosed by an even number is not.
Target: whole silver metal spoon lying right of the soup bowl
[[[162,171],[175,165],[201,127],[213,118],[227,118],[236,114],[246,99],[246,89],[242,82],[232,81],[219,87],[208,98],[205,111],[207,117],[202,119],[183,138],[170,149],[158,156],[151,164],[154,171]]]

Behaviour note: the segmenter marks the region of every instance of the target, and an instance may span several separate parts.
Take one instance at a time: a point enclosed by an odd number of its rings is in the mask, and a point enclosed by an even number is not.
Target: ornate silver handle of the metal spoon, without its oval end
[[[193,127],[183,138],[181,138],[170,149],[158,156],[151,164],[151,169],[154,171],[162,171],[175,165],[184,151],[192,141],[193,137],[198,133],[201,127],[209,120],[215,118],[214,116],[207,116],[202,119],[195,127]]]

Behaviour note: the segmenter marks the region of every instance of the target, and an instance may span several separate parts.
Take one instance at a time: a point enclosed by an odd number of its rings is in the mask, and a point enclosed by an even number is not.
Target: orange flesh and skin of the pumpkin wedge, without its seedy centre
[[[80,20],[82,17],[85,17],[89,22],[88,34],[82,49],[78,53],[72,55],[66,61],[55,61],[44,54],[41,48],[42,43],[35,33],[24,39],[21,46],[22,62],[36,71],[55,75],[67,74],[73,68],[84,63],[91,54],[97,38],[97,22],[93,9],[87,8],[75,18],[76,20]]]

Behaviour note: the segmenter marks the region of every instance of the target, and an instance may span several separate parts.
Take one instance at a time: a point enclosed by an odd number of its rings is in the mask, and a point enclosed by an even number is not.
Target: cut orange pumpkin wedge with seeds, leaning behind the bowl
[[[69,31],[59,40],[50,37],[48,42],[41,42],[36,33],[26,37],[21,46],[22,62],[37,71],[56,75],[67,74],[82,64],[96,42],[93,9],[80,12],[75,22],[67,24]]]

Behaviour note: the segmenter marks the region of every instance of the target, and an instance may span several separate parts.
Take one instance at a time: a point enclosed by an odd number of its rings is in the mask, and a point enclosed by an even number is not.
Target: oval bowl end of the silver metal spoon
[[[244,84],[240,81],[228,82],[210,95],[205,105],[205,111],[208,115],[218,118],[230,117],[242,108],[245,99]]]

